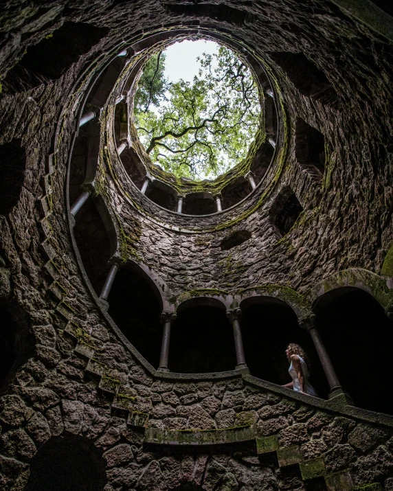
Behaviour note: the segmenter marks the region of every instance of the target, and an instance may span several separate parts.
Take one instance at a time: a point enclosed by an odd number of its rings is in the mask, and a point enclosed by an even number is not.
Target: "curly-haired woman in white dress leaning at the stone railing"
[[[290,343],[287,347],[287,358],[291,365],[289,366],[289,375],[292,377],[292,382],[285,384],[282,387],[288,387],[297,392],[308,394],[308,396],[317,397],[317,391],[308,381],[310,376],[310,362],[303,348],[295,343]]]

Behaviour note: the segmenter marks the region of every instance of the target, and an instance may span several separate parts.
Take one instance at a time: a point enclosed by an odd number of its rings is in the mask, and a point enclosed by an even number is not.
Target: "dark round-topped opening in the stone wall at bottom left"
[[[25,491],[101,491],[105,463],[89,440],[76,436],[50,439],[30,463]]]

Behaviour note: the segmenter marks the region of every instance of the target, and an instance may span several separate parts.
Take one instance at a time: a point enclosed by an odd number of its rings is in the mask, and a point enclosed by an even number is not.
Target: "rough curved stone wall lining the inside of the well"
[[[346,287],[366,290],[391,314],[392,279],[381,269],[393,235],[392,20],[359,5],[5,5],[0,155],[11,184],[0,196],[0,320],[14,358],[1,368],[3,489],[42,488],[34,456],[70,435],[85,442],[78,452],[91,457],[105,491],[393,489],[392,416],[355,407],[345,391],[328,400],[295,393],[244,366],[160,372],[99,299],[111,264],[133,262],[161,291],[164,322],[190,299],[214,298],[234,315],[242,301],[264,297],[285,302],[312,329],[317,299]],[[245,43],[274,81],[282,126],[273,164],[254,193],[223,213],[173,214],[142,196],[120,163],[114,106],[106,105],[121,94],[113,84],[94,90],[116,55],[135,40],[143,47],[163,26]],[[123,62],[116,59],[117,73]],[[92,119],[91,133],[78,133],[93,106],[102,108],[101,127]],[[305,125],[324,137],[323,175],[315,161],[316,171],[305,164]],[[91,194],[99,226],[83,208],[69,214],[79,191]],[[289,225],[291,196],[302,212]],[[84,247],[75,227],[86,233]],[[236,232],[251,236],[222,247]],[[102,271],[93,277],[96,264]],[[377,358],[375,341],[370,332]]]

